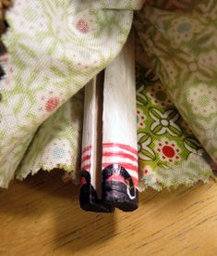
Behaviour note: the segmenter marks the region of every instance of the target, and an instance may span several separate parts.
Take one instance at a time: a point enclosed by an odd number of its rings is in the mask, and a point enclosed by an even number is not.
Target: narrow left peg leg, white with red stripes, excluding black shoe
[[[81,169],[90,172],[91,185],[101,196],[102,81],[94,78],[85,86]],[[99,162],[100,161],[100,162]]]

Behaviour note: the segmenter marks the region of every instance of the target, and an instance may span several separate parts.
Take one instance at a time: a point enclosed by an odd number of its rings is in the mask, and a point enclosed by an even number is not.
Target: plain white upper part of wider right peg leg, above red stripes
[[[103,143],[137,148],[134,40],[131,34],[106,68],[103,92]]]

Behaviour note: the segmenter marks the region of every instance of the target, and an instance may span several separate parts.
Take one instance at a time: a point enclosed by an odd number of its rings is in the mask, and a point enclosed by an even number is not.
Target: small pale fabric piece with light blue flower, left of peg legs
[[[62,169],[72,173],[73,179],[80,166],[81,132],[83,116],[83,91],[70,98],[39,127],[16,177],[26,178],[40,170]]]

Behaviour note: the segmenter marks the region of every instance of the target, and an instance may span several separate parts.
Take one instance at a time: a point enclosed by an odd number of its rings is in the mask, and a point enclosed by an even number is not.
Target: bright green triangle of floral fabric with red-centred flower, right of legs
[[[137,106],[140,189],[208,181],[209,156],[144,61],[137,64]]]

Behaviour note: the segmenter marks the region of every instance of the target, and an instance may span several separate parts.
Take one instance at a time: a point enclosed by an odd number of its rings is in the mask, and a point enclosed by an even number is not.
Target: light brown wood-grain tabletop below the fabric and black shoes
[[[81,211],[78,187],[38,173],[0,190],[0,255],[217,255],[217,185],[147,191],[139,210]]]

